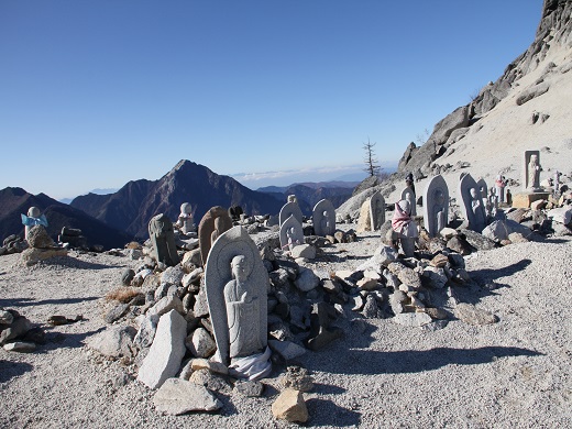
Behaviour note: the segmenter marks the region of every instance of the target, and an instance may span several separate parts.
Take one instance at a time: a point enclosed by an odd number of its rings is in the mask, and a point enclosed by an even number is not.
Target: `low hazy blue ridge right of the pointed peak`
[[[277,198],[282,204],[286,202],[288,195],[295,195],[301,212],[310,216],[314,206],[321,199],[329,199],[333,207],[342,205],[352,196],[355,185],[353,182],[305,183],[290,186],[266,186],[257,190]]]

